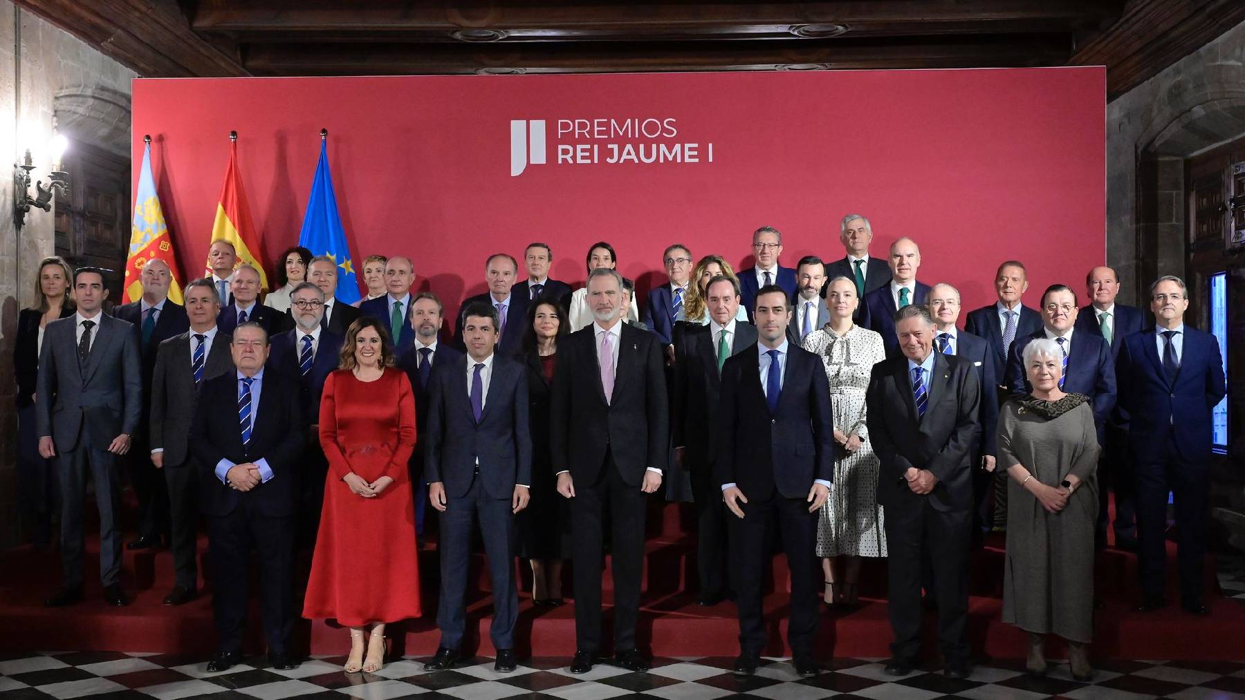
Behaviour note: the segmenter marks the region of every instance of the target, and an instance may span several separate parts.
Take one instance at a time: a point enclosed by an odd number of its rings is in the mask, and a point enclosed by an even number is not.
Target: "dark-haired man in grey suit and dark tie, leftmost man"
[[[45,604],[82,598],[82,501],[87,470],[100,509],[100,578],[110,606],[126,606],[121,589],[121,480],[117,456],[142,418],[143,377],[138,334],[132,325],[101,313],[105,271],[73,274],[77,313],[52,321],[39,356],[35,426],[39,454],[56,458],[61,485],[61,564],[65,586]]]

